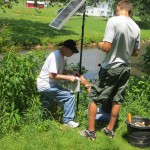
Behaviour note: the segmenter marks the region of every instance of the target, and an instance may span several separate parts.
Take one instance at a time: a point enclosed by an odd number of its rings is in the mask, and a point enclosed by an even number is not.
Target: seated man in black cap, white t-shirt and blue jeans
[[[60,47],[52,52],[46,59],[40,75],[37,78],[38,92],[44,107],[48,108],[48,103],[58,100],[64,109],[63,123],[66,126],[76,128],[79,123],[74,122],[75,96],[62,87],[62,80],[76,82],[76,72],[66,70],[64,67],[64,57],[71,57],[78,53],[74,40],[64,41]]]

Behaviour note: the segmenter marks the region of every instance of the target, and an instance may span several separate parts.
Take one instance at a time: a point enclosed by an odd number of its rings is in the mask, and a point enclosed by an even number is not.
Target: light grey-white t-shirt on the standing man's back
[[[129,17],[115,16],[108,20],[103,41],[112,43],[102,62],[105,69],[129,65],[133,49],[140,49],[140,28]]]

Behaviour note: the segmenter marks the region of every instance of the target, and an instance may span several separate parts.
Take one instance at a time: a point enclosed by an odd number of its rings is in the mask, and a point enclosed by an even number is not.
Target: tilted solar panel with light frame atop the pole
[[[56,16],[49,26],[60,30],[62,26],[77,12],[77,10],[85,3],[86,0],[72,0],[67,6]]]

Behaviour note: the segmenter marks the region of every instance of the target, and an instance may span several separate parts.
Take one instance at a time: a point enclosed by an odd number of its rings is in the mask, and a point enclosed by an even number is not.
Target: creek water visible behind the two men
[[[141,50],[139,51],[139,55],[137,57],[131,57],[131,74],[140,78],[143,72],[143,65],[140,63],[142,55],[145,53],[145,48],[147,44],[143,44],[141,46]],[[98,48],[83,48],[82,52],[82,66],[84,66],[88,72],[84,74],[84,76],[93,80],[99,71],[99,66],[105,57],[105,52],[98,50]],[[70,63],[78,63],[80,61],[80,53],[74,54],[69,57],[68,64]]]

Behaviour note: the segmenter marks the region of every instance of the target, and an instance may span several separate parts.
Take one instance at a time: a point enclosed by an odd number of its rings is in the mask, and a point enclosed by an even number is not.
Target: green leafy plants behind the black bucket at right
[[[150,77],[132,77],[128,83],[123,104],[123,118],[130,112],[133,116],[149,118],[150,114]]]

